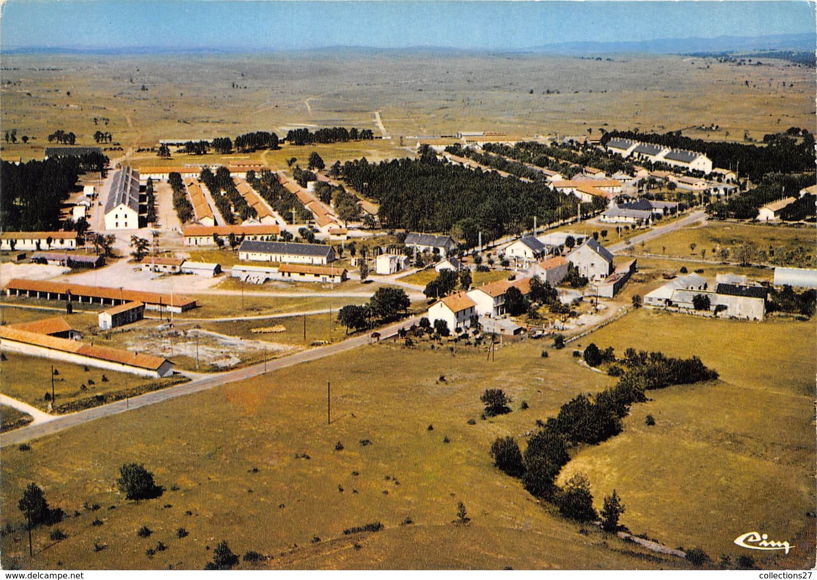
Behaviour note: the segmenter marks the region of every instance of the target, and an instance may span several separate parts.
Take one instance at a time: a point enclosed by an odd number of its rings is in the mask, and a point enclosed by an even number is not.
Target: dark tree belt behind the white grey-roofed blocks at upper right
[[[797,129],[797,127],[792,127]],[[815,169],[815,137],[806,129],[797,129],[800,142],[792,133],[786,132],[769,139],[765,146],[744,145],[728,141],[703,141],[681,135],[680,131],[659,133],[640,133],[633,131],[611,131],[601,137],[602,145],[610,139],[629,139],[671,147],[698,151],[712,159],[713,167],[740,167],[741,175],[755,183],[768,173],[813,172]]]

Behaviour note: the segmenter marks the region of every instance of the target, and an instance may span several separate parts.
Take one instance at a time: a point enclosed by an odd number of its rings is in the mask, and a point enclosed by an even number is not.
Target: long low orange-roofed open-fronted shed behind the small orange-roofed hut
[[[125,288],[105,288],[101,286],[84,286],[48,280],[11,279],[6,284],[9,296],[25,296],[45,300],[77,301],[80,304],[101,304],[118,306],[124,302],[144,302],[148,310],[167,310],[168,312],[185,312],[196,307],[196,301],[180,294],[159,294]]]

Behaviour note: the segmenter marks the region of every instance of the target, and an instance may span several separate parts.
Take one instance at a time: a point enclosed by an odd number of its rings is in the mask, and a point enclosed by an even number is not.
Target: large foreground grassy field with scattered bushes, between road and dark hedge
[[[42,485],[52,506],[78,515],[60,524],[69,538],[56,545],[47,532],[35,532],[30,562],[23,544],[14,542],[19,533],[5,536],[3,564],[200,569],[212,557],[206,547],[226,538],[239,554],[274,555],[267,564],[273,568],[683,565],[643,560],[639,551],[601,533],[579,535],[577,524],[538,506],[518,481],[493,468],[488,448],[495,436],[520,436],[562,401],[611,383],[581,370],[568,352],[542,359],[542,346],[504,347],[496,363],[466,347],[452,355],[427,343],[422,350],[369,346],[102,419],[35,441],[30,452],[4,449],[5,522],[20,523],[16,500],[29,481]],[[384,366],[415,370],[384,381]],[[515,409],[523,400],[529,408],[480,421],[479,395],[496,385],[513,397]],[[467,423],[472,418],[475,425]],[[202,425],[208,437],[198,435]],[[363,439],[371,444],[361,445]],[[338,441],[342,450],[336,450]],[[163,497],[127,502],[115,490],[118,466],[131,461],[154,471],[166,488]],[[74,476],[78,472],[83,478]],[[459,501],[471,517],[467,527],[450,523]],[[86,511],[86,502],[102,510]],[[96,518],[103,524],[92,526]],[[407,518],[413,524],[401,525]],[[342,534],[371,521],[386,530]],[[149,539],[136,537],[142,525],[154,530]],[[190,535],[176,538],[179,527]],[[167,551],[145,555],[158,541]],[[441,550],[444,541],[451,543]],[[107,549],[94,551],[94,542]]]

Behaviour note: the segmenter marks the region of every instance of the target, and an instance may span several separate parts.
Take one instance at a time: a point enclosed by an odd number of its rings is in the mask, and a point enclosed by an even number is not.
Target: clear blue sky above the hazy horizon
[[[0,47],[512,50],[555,42],[814,32],[814,7],[806,0],[8,0]]]

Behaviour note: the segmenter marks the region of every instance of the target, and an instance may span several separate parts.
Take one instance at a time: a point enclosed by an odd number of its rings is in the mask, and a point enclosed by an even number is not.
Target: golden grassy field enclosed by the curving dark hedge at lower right
[[[583,338],[591,341],[619,355],[627,346],[699,355],[721,380],[651,391],[622,435],[581,450],[560,479],[585,473],[597,498],[616,489],[626,524],[671,547],[734,559],[745,553],[734,538],[762,529],[802,546],[761,557],[764,565],[813,564],[815,323],[641,309]],[[648,413],[655,426],[645,426]]]

